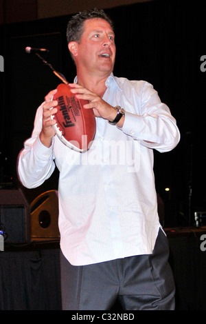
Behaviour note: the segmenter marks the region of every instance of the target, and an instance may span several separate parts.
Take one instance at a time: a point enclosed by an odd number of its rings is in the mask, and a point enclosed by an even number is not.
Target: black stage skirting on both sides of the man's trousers
[[[205,243],[196,231],[169,236],[176,310],[206,310]],[[0,310],[61,310],[59,252],[0,252]],[[116,302],[113,311],[121,310]]]

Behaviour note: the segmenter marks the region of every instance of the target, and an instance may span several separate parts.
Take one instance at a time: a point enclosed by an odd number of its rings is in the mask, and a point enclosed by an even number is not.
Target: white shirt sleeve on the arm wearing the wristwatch
[[[138,94],[137,94],[138,96]],[[134,99],[134,112],[125,113],[122,131],[141,142],[148,148],[159,152],[172,150],[180,140],[176,119],[170,109],[161,103],[157,91],[150,83],[145,82],[141,90],[141,101]],[[137,109],[137,105],[141,108]],[[126,108],[125,108],[126,110]]]

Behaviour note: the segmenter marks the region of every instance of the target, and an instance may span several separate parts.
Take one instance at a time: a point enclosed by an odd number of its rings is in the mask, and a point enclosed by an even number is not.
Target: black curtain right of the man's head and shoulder
[[[204,1],[151,1],[111,13],[117,23],[115,73],[152,83],[181,131],[172,152],[155,152],[165,225],[193,225],[194,210],[205,208],[206,74],[200,70],[206,36]],[[169,197],[165,187],[170,188]]]

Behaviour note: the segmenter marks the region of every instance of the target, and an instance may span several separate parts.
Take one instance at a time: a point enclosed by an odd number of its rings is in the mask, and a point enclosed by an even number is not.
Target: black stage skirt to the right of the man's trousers
[[[205,234],[204,234],[205,235]],[[206,310],[206,254],[200,237],[170,237],[170,265],[176,285],[176,310]],[[205,245],[205,243],[204,243]]]

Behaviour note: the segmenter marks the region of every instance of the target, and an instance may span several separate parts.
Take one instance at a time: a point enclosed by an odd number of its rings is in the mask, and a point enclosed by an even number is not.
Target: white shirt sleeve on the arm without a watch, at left
[[[24,143],[24,148],[19,153],[17,172],[19,180],[26,188],[36,188],[41,185],[54,172],[53,145],[45,147],[39,139],[42,125],[42,105],[36,112],[34,130],[30,139]]]

